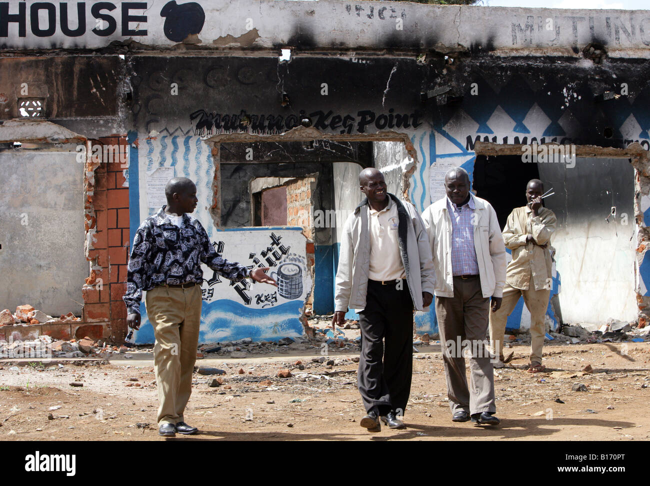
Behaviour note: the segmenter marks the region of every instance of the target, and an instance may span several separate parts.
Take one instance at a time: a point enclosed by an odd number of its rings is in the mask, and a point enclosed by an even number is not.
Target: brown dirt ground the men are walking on
[[[226,370],[224,383],[194,374],[186,421],[198,435],[158,435],[153,361],[140,359],[49,363],[0,363],[0,439],[4,441],[647,441],[650,417],[650,345],[644,343],[547,344],[547,372],[525,371],[527,346],[496,370],[500,426],[451,422],[439,346],[413,353],[406,429],[359,426],[363,405],[356,388],[358,355],[331,352],[335,365],[314,363],[320,355],[248,359],[203,359],[197,365]],[[304,370],[294,363],[302,361]],[[62,366],[61,366],[62,365]],[[591,365],[593,372],[581,370]],[[18,370],[10,368],[18,366]],[[292,368],[292,377],[278,371]],[[239,370],[244,370],[243,374]],[[328,375],[329,374],[329,375]],[[136,381],[137,380],[137,381]],[[261,381],[270,380],[266,384]],[[83,383],[72,387],[71,382]],[[573,391],[574,384],[586,391]],[[139,386],[138,386],[139,385]],[[227,388],[230,387],[230,388]],[[557,400],[564,403],[560,403]],[[52,410],[51,407],[60,407]],[[643,413],[640,413],[643,411]],[[48,418],[51,416],[51,418]]]

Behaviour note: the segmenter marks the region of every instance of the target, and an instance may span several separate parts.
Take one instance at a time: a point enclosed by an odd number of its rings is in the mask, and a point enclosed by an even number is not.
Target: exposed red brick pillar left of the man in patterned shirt
[[[117,145],[123,150],[128,147],[126,138],[118,136],[93,143]],[[122,296],[130,245],[129,188],[123,186],[125,166],[119,153],[103,155],[107,157],[101,162],[86,163],[86,259],[90,275],[83,287],[81,324],[72,334],[122,342],[127,333]]]

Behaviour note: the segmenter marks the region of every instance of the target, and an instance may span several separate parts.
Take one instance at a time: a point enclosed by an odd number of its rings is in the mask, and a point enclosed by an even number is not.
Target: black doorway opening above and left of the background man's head
[[[489,201],[503,229],[510,212],[526,205],[526,184],[539,179],[539,170],[536,163],[522,162],[521,155],[476,155],[473,175],[476,196]]]

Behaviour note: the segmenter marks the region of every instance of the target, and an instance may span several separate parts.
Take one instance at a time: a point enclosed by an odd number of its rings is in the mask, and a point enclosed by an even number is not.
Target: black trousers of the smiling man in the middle
[[[413,300],[406,280],[401,285],[369,280],[366,307],[359,316],[357,385],[363,405],[380,415],[391,409],[404,415],[413,372]]]

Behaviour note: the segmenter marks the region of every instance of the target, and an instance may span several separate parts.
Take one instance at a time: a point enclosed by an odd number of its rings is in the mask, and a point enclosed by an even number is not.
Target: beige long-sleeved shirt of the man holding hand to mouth
[[[539,216],[532,216],[528,206],[516,207],[508,216],[503,229],[506,248],[512,250],[512,261],[508,263],[506,282],[514,288],[528,290],[532,275],[535,290],[551,288],[551,248],[538,245],[551,244],[557,219],[550,209],[542,207]],[[532,235],[538,243],[526,243],[526,237]]]

